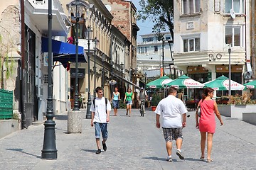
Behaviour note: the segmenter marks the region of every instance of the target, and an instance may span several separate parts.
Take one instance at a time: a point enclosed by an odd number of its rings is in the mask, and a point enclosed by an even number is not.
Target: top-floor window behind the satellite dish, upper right
[[[244,0],[225,0],[225,13],[230,13],[233,8],[235,13],[244,13]]]

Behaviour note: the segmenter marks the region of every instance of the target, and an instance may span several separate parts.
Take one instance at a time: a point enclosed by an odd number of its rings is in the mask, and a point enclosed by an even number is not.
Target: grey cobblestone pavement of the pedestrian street
[[[183,129],[185,160],[178,159],[176,147],[173,162],[166,162],[166,149],[161,129],[155,127],[155,114],[137,109],[127,117],[125,110],[110,117],[107,152],[95,154],[95,129],[90,120],[82,119],[82,134],[67,134],[67,115],[55,120],[58,159],[41,159],[44,125],[31,125],[0,139],[0,169],[255,169],[256,126],[241,120],[223,117],[218,120],[213,137],[214,162],[199,160],[200,134],[195,128],[195,113],[187,118]],[[111,112],[113,115],[113,112]]]

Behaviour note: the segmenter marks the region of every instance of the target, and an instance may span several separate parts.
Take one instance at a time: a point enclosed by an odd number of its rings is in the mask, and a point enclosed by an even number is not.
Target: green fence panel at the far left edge
[[[0,119],[11,119],[13,115],[13,91],[0,89]]]

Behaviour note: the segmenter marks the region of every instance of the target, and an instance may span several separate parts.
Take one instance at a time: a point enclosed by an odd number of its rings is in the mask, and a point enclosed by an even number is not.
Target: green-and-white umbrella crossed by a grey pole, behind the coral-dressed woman
[[[214,90],[223,91],[223,90],[228,90],[229,81],[228,81],[228,77],[221,76],[221,77],[218,77],[215,80],[208,81],[204,84],[207,87],[210,87]],[[246,87],[242,84],[239,84],[239,83],[231,80],[231,90],[246,90]]]

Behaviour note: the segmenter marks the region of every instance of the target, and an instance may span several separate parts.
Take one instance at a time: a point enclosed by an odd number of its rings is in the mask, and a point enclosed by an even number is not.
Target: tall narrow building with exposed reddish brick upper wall
[[[123,60],[119,60],[118,63],[124,64],[125,84],[122,89],[127,89],[128,86],[132,89],[139,88],[135,86],[136,77],[134,74],[137,68],[137,32],[139,31],[135,17],[137,8],[132,1],[127,0],[102,0],[102,2],[114,17],[112,26],[116,27],[127,38],[126,44],[129,45],[126,55],[121,57]]]

